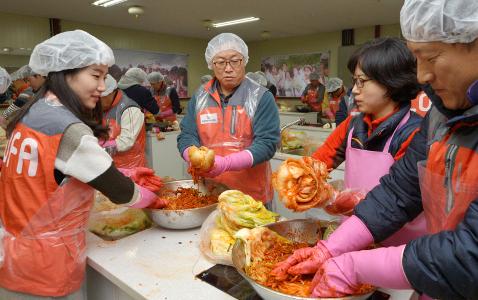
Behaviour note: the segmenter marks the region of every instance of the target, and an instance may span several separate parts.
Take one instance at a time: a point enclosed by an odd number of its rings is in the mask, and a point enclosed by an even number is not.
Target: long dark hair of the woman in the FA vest
[[[98,138],[108,138],[108,128],[103,126],[101,120],[103,118],[103,110],[101,108],[101,101],[98,101],[94,109],[87,109],[81,103],[78,95],[70,88],[66,81],[66,76],[73,76],[83,70],[71,69],[60,72],[51,72],[48,74],[45,83],[35,95],[32,101],[29,101],[22,109],[15,114],[15,117],[9,122],[7,126],[7,136],[10,137],[15,126],[27,114],[35,102],[42,99],[47,91],[51,91],[58,97],[58,100],[68,110],[70,110],[78,119],[88,125],[93,130],[93,134]]]

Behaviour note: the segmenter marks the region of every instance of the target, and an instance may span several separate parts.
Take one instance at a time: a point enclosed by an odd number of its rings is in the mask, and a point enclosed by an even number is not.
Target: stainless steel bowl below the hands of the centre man
[[[228,187],[214,182],[212,180],[205,180],[195,184],[192,180],[175,180],[164,184],[159,191],[159,195],[164,195],[172,191],[176,191],[178,188],[196,188],[204,195],[219,195],[222,192],[228,190]],[[213,212],[217,207],[217,203],[191,209],[146,209],[151,220],[157,225],[170,228],[170,229],[189,229],[202,225],[204,220]]]

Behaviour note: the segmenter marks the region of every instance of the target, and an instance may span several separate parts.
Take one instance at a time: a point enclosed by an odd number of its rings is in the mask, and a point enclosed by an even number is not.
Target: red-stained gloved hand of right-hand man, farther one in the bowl
[[[285,261],[278,263],[271,274],[279,280],[285,280],[287,274],[313,274],[330,257],[330,252],[319,241],[315,247],[295,250]]]

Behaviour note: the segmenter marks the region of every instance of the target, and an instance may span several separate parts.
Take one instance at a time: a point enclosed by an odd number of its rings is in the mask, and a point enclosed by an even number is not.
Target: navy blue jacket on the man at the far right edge
[[[367,225],[376,242],[422,212],[417,163],[429,158],[432,143],[429,141],[445,147],[456,145],[471,153],[465,159],[476,161],[472,157],[478,149],[478,106],[467,111],[450,111],[431,88],[425,91],[434,108],[426,115],[405,156],[355,208],[355,215]],[[447,130],[447,139],[437,139],[438,126]],[[478,168],[466,167],[468,173],[463,176],[476,178],[476,173],[469,170]],[[454,230],[409,242],[402,264],[408,281],[419,292],[439,299],[478,299],[478,198],[471,202]]]

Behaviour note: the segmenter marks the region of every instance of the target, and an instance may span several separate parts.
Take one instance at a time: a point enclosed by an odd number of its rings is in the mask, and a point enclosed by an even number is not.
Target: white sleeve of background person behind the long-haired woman
[[[128,151],[136,142],[144,125],[144,114],[137,107],[126,109],[121,115],[121,133],[116,137],[118,152]]]

